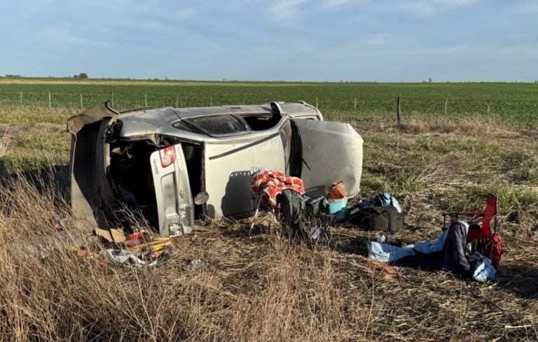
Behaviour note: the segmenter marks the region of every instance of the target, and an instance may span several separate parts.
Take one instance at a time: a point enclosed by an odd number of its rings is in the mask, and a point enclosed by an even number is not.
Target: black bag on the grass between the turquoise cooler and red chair
[[[350,213],[350,221],[364,230],[389,231],[395,234],[402,224],[401,215],[393,206],[357,206]]]

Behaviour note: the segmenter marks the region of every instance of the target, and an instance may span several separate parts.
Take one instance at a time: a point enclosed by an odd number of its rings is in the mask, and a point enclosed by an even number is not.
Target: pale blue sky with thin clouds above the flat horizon
[[[538,80],[538,0],[0,0],[0,75]]]

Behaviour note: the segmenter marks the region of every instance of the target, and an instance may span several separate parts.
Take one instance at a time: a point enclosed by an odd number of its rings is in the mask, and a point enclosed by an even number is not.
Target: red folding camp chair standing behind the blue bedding
[[[466,211],[463,213],[443,213],[443,230],[446,229],[446,218],[458,219],[459,216],[474,216],[479,218],[469,222],[467,243],[474,245],[476,250],[491,260],[496,268],[499,267],[502,255],[502,238],[497,235],[497,197],[489,194],[485,200],[484,211]],[[491,221],[493,220],[493,225]],[[493,232],[491,231],[493,226]]]

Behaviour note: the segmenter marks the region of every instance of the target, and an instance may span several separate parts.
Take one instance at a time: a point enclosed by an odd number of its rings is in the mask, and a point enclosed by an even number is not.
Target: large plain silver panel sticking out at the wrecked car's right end
[[[357,131],[342,122],[301,119],[293,122],[302,149],[296,154],[301,154],[300,174],[307,194],[325,196],[329,187],[340,181],[347,197],[359,194],[363,140]]]

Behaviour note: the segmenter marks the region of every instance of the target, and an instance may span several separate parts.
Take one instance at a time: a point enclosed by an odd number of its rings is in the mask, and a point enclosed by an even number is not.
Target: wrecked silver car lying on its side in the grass
[[[352,197],[359,192],[362,140],[349,124],[322,120],[304,102],[124,113],[107,104],[90,108],[68,124],[74,213],[92,227],[129,227],[136,217],[163,236],[188,234],[196,218],[249,215],[251,174],[262,169],[305,176],[308,193],[316,195],[343,180]],[[202,192],[209,199],[194,204]]]

